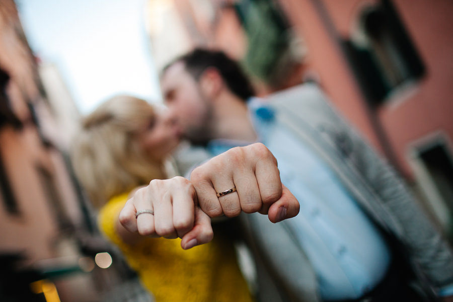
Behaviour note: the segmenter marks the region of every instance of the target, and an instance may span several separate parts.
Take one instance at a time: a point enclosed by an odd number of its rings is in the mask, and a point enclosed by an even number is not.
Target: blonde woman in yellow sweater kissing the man
[[[117,96],[83,120],[72,152],[74,170],[99,209],[100,229],[120,248],[130,267],[137,271],[143,285],[157,301],[251,301],[228,240],[216,236],[211,242],[190,249],[212,239],[209,218],[194,207],[192,200],[188,204],[182,202],[184,196],[173,198],[172,206],[178,207],[181,202],[183,212],[195,215],[193,225],[204,223],[208,231],[198,242],[187,238],[194,237],[191,232],[196,233],[200,228],[166,234],[168,238],[179,236],[183,238],[182,242],[181,239],[140,236],[127,231],[119,222],[119,213],[131,192],[148,185],[150,180],[170,176],[165,163],[178,145],[179,137],[174,122],[165,113],[157,112],[144,100]],[[184,191],[186,195],[195,196],[193,186],[186,179],[175,178],[165,184],[169,184],[163,191],[165,194],[172,192],[176,184],[178,188],[192,190]],[[149,187],[134,194],[146,193]],[[177,219],[176,212],[173,212],[173,219]],[[157,213],[138,216],[148,221],[155,219],[156,230],[159,223],[164,228],[168,222],[158,220],[160,217]]]

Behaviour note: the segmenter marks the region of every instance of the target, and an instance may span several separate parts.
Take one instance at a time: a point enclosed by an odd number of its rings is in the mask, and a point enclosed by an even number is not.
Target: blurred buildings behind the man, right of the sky
[[[414,185],[445,230],[453,229],[451,1],[149,3],[153,22],[162,19],[153,7],[164,4],[179,16],[180,52],[197,45],[223,49],[243,63],[261,95],[317,82]],[[156,33],[176,37],[165,24],[148,22],[155,49],[164,47]]]

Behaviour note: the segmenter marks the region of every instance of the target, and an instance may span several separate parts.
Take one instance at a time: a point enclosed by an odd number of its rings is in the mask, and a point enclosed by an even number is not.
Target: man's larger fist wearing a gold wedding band
[[[190,181],[201,209],[210,217],[268,214],[278,222],[299,212],[297,199],[282,185],[277,161],[262,143],[236,147],[194,169]],[[216,193],[236,187],[236,192]]]

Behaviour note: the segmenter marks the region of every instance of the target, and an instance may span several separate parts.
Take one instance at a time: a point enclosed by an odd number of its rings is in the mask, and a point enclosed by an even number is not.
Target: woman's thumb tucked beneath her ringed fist
[[[213,237],[211,218],[197,206],[193,229],[184,235],[181,240],[181,247],[188,250],[194,246],[210,242]]]

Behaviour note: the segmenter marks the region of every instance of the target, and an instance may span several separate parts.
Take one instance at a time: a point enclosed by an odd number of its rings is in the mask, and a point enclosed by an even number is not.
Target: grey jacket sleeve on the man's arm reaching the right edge
[[[397,238],[406,246],[412,262],[418,266],[431,285],[439,288],[453,284],[451,249],[426,213],[421,210],[403,179],[328,104],[318,88],[311,87],[309,94],[316,99],[316,106],[321,106],[318,109],[335,125],[337,129],[335,139],[340,142],[349,141],[346,145],[349,145],[350,150],[340,149],[339,152],[349,154],[346,160],[378,196],[376,200],[381,202],[385,212],[399,225],[400,234]]]

